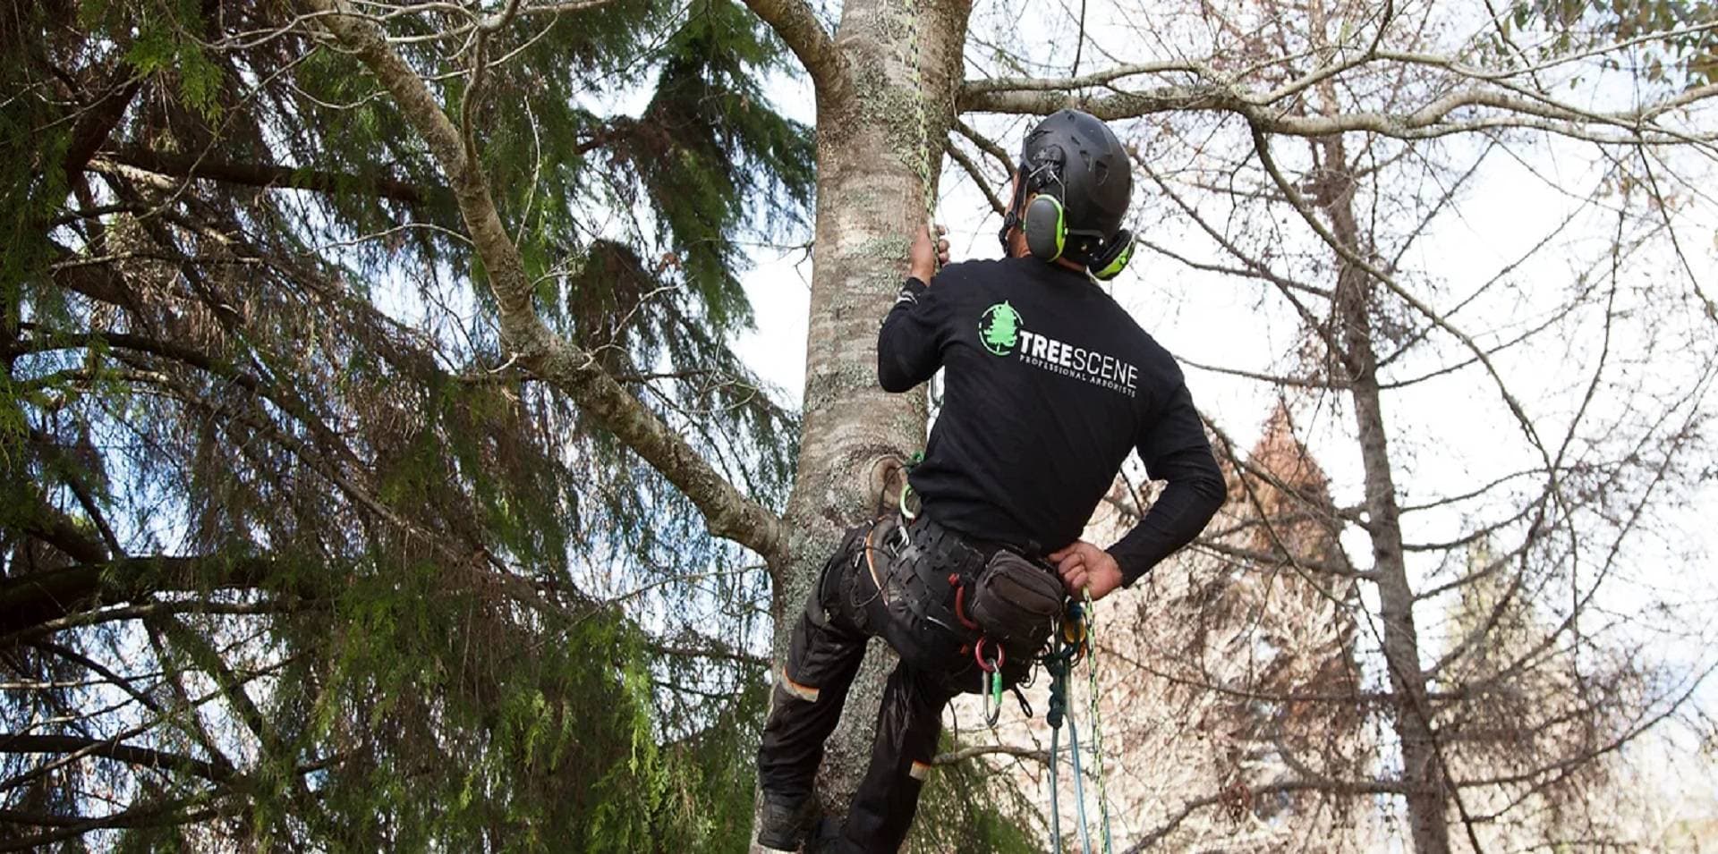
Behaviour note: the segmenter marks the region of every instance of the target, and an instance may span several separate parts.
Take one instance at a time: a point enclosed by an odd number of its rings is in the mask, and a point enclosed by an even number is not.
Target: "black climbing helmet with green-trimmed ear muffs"
[[[1003,220],[1003,246],[1019,223],[1034,256],[1065,256],[1098,278],[1112,278],[1132,254],[1134,237],[1122,229],[1132,191],[1122,141],[1098,117],[1060,110],[1020,146],[1020,182]]]

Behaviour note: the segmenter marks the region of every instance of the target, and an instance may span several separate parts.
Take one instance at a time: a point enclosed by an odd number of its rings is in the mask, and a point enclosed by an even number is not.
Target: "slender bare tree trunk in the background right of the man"
[[[1349,172],[1342,137],[1319,141],[1325,153],[1323,184],[1331,232],[1357,258],[1368,249],[1359,241],[1354,218],[1354,175]],[[1385,624],[1383,653],[1390,668],[1390,692],[1397,739],[1402,742],[1402,784],[1407,789],[1409,830],[1416,854],[1448,854],[1450,828],[1445,821],[1447,792],[1443,766],[1431,730],[1426,675],[1419,665],[1419,629],[1414,625],[1414,591],[1402,557],[1402,512],[1397,505],[1390,447],[1385,435],[1383,395],[1378,388],[1378,354],[1373,349],[1369,273],[1338,256],[1337,320],[1342,356],[1354,393],[1354,421],[1361,438],[1366,473],[1366,531],[1373,541],[1373,569]]]

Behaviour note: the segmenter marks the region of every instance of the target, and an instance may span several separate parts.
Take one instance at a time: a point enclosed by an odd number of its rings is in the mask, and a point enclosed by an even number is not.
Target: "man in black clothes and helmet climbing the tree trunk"
[[[1127,265],[1130,191],[1115,134],[1062,110],[1022,146],[1007,258],[935,273],[947,242],[933,246],[929,230],[914,241],[878,335],[878,380],[907,392],[947,369],[909,481],[921,509],[904,500],[899,519],[850,529],[813,586],[758,754],[761,845],[795,851],[816,823],[813,777],[868,636],[900,662],[845,827],[825,821],[811,851],[899,851],[943,705],[979,689],[981,674],[1024,675],[1063,591],[1096,600],[1137,581],[1223,502],[1175,359],[1094,284]],[[1081,541],[1130,448],[1168,488],[1108,550]]]

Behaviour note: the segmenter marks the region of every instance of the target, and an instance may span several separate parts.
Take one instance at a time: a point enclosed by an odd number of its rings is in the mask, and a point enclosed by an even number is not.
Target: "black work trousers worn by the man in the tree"
[[[871,765],[842,828],[838,851],[844,854],[900,851],[936,751],[941,710],[957,692],[979,687],[971,646],[962,644],[959,632],[947,637],[933,632],[938,637],[929,643],[921,643],[923,631],[917,637],[900,634],[907,631],[902,629],[907,624],[902,619],[904,600],[917,593],[902,583],[904,574],[909,583],[912,579],[912,569],[904,562],[929,560],[928,574],[933,577],[941,572],[971,577],[983,567],[983,555],[959,546],[952,536],[938,534],[924,543],[926,526],[933,522],[914,526],[911,546],[905,536],[890,531],[888,522],[849,531],[813,588],[794,627],[787,662],[777,674],[758,751],[758,775],[766,794],[790,801],[813,796],[823,742],[840,720],[866,641],[873,634],[883,636],[900,653],[883,689]],[[900,536],[899,543],[909,553],[904,557],[878,541],[868,545],[868,534]],[[935,595],[941,596],[941,591]]]

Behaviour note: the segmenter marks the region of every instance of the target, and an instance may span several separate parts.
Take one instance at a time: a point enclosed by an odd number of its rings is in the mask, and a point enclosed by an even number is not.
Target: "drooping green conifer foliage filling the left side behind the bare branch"
[[[495,204],[545,323],[780,503],[794,416],[727,342],[740,244],[804,241],[782,48],[582,5],[486,43]],[[739,847],[759,569],[521,371],[448,180],[313,22],[0,5],[0,851]],[[472,22],[400,26],[460,107]]]

